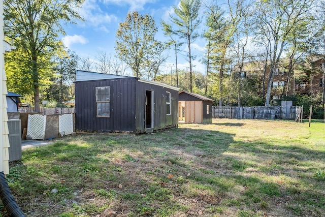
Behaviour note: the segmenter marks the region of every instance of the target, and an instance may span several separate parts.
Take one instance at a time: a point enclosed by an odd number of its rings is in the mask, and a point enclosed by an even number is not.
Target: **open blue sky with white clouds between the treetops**
[[[63,44],[75,51],[81,58],[96,59],[99,53],[115,55],[116,31],[118,24],[125,21],[128,11],[138,11],[140,14],[151,15],[159,31],[156,39],[167,41],[161,31],[160,20],[169,20],[169,14],[173,13],[173,6],[178,5],[179,0],[85,0],[79,14],[85,19],[77,24],[64,26],[66,36],[62,38]],[[205,67],[199,62],[203,54],[204,41],[198,39],[192,50],[198,57],[194,60],[197,71],[204,73]],[[185,49],[185,45],[184,48]],[[170,70],[169,66],[175,64],[173,50],[169,51],[170,58],[163,70]],[[185,59],[179,56],[179,68],[188,67]],[[169,68],[169,69],[168,69]]]

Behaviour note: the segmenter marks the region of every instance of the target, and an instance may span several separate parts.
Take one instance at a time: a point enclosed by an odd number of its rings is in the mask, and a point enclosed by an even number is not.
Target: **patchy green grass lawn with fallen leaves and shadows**
[[[324,216],[324,137],[247,119],[78,135],[24,150],[7,180],[27,216]]]

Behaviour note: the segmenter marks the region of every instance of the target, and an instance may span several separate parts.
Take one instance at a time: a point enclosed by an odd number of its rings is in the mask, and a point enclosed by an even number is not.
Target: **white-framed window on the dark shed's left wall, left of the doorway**
[[[110,87],[96,87],[97,117],[110,117]]]

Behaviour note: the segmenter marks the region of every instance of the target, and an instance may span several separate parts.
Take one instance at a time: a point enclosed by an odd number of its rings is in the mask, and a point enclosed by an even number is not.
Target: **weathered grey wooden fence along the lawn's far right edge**
[[[288,112],[289,111],[289,112]],[[287,110],[284,106],[233,107],[213,106],[213,118],[237,118],[237,119],[297,119],[302,111],[300,106],[290,106]]]

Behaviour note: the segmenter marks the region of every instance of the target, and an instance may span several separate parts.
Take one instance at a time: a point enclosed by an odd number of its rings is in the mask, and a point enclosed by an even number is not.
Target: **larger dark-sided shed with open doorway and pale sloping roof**
[[[149,133],[177,127],[178,90],[136,77],[77,71],[76,130]]]

